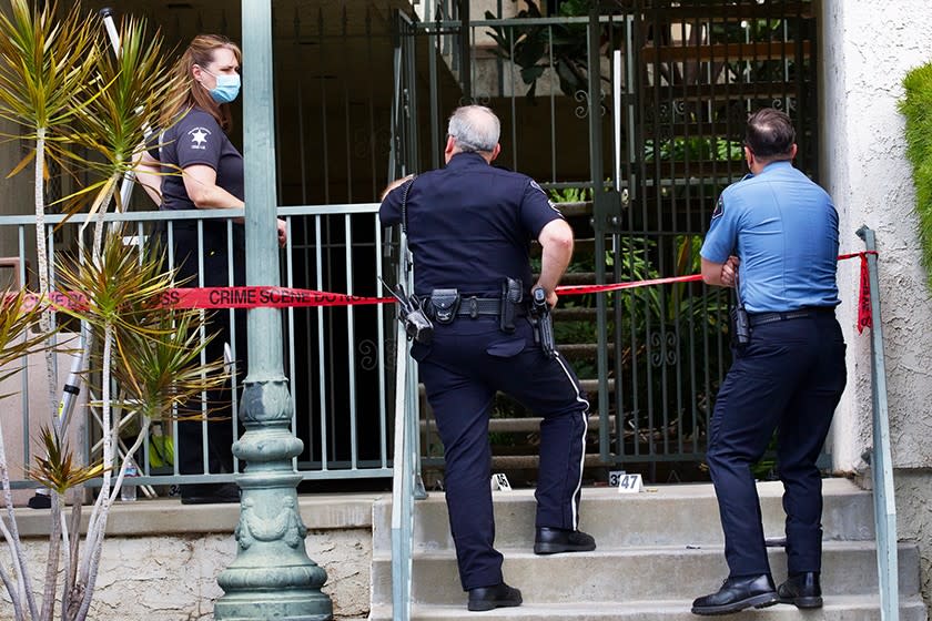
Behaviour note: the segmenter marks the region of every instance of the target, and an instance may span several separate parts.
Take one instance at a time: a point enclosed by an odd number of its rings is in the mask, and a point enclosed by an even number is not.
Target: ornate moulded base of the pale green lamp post
[[[284,378],[245,381],[242,417],[246,432],[233,454],[247,464],[235,537],[236,559],[217,577],[224,591],[214,619],[326,621],[333,602],[321,592],[327,573],[307,557],[307,528],[297,510],[292,458],[303,449],[287,427],[291,398]]]

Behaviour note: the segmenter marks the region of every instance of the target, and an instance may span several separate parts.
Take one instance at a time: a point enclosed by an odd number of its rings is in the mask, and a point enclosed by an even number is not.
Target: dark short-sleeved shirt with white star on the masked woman
[[[179,170],[203,164],[216,171],[217,186],[241,201],[243,187],[243,156],[230,142],[216,119],[200,108],[192,108],[171,128],[162,132],[158,154],[162,163],[163,210],[194,210],[194,203],[184,190]]]

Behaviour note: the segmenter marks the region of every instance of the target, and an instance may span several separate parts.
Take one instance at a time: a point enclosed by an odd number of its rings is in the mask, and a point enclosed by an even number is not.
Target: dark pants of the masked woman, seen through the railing
[[[242,225],[233,224],[233,255],[230,261],[231,241],[225,221],[207,220],[203,225],[203,247],[199,246],[197,226],[193,222],[178,222],[172,227],[174,243],[175,279],[186,281],[183,287],[225,287],[245,284],[245,253],[243,252]],[[168,248],[168,232],[162,232],[162,247]],[[199,266],[199,254],[203,253],[203,272]],[[168,257],[168,253],[165,253]],[[231,268],[233,271],[231,279]],[[203,275],[203,277],[201,277]],[[207,343],[204,354],[207,362],[223,358],[223,345],[233,346],[235,327],[236,375],[241,381],[246,376],[246,312],[235,310],[234,320],[230,319],[229,309],[220,309],[209,315],[205,334],[216,333]],[[239,385],[239,384],[237,384]],[[204,432],[201,420],[181,420],[178,424],[179,471],[182,475],[233,471],[233,442],[239,436],[237,427],[231,421],[233,414],[230,384],[210,390],[207,401],[207,441],[206,469],[204,466]],[[201,401],[188,405],[188,413],[200,415]],[[184,413],[182,413],[184,414]]]

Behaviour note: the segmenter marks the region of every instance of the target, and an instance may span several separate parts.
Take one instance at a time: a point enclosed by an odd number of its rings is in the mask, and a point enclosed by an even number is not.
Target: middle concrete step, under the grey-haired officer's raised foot
[[[712,592],[728,574],[721,546],[597,549],[594,552],[538,557],[527,549],[499,548],[505,580],[530,602],[686,600]],[[773,580],[786,580],[782,549],[770,549]],[[900,593],[919,595],[919,548],[901,544]],[[419,551],[413,567],[413,601],[463,601],[452,551]],[[373,601],[392,599],[392,559],[373,554]],[[878,592],[877,551],[871,541],[827,541],[822,550],[822,591],[828,595]]]

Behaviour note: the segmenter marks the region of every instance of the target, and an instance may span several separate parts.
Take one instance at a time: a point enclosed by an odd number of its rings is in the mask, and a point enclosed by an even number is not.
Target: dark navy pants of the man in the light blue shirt
[[[822,310],[753,326],[750,345],[735,352],[707,456],[731,577],[770,572],[751,466],[774,430],[788,569],[821,569],[822,480],[816,461],[844,390],[844,349],[834,314]]]

